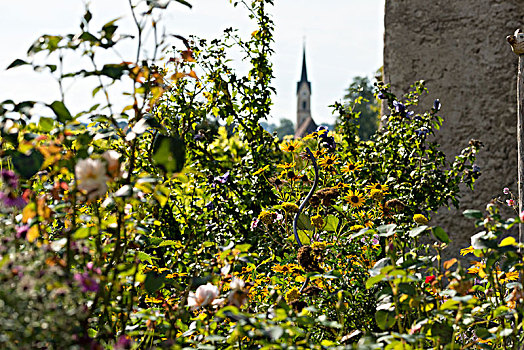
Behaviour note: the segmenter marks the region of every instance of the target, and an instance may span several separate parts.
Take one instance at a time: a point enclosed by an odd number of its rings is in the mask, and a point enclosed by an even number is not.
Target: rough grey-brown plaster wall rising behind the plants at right
[[[517,57],[505,37],[524,24],[524,1],[386,0],[385,13],[384,78],[393,92],[423,79],[429,97],[421,105],[440,98],[437,141],[448,161],[472,138],[485,145],[475,191],[464,189],[459,210],[432,218],[453,240],[448,254],[458,255],[478,230],[462,211],[484,210],[503,187],[516,193]]]

